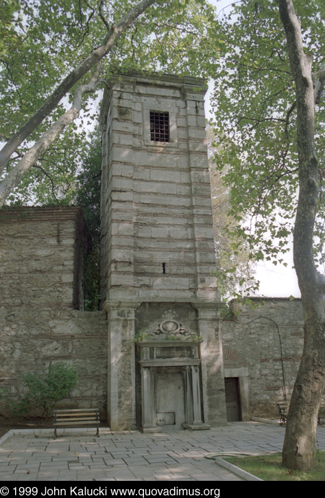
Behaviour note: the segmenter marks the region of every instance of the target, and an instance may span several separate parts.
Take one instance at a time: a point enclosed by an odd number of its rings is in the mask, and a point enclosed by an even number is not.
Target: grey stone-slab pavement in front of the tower
[[[233,422],[209,431],[143,434],[139,431],[40,429],[0,439],[1,481],[241,481],[209,453],[276,453],[285,428],[261,422]],[[317,431],[325,449],[325,427]]]

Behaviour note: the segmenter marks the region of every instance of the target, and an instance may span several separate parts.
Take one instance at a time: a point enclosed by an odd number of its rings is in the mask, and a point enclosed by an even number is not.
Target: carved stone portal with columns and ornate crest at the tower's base
[[[143,432],[210,429],[202,422],[199,342],[174,319],[137,342]]]

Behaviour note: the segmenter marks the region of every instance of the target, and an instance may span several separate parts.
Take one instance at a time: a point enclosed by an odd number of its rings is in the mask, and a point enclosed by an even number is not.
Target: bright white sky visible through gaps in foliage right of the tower
[[[230,8],[232,1],[230,0],[209,0],[210,3],[216,6],[217,12],[221,9]],[[210,109],[210,95],[213,90],[213,82],[210,82],[208,92],[206,93],[205,111],[206,117],[209,119],[213,117]],[[256,266],[256,279],[260,281],[260,288],[256,295],[263,295],[265,297],[300,297],[300,289],[296,271],[293,269],[292,259],[292,242],[289,244],[290,252],[287,257],[284,257],[283,264],[276,266],[271,262],[260,262]]]

